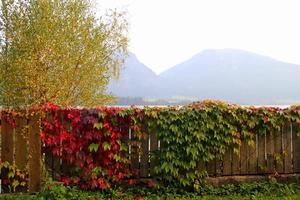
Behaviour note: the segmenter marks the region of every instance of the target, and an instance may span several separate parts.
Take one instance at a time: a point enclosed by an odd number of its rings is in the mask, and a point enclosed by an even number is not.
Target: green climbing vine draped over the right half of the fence
[[[157,134],[157,177],[167,184],[198,188],[207,175],[201,164],[238,153],[241,142],[254,145],[256,134],[276,134],[288,121],[299,123],[299,107],[241,107],[220,101],[184,107],[145,108],[142,123]]]

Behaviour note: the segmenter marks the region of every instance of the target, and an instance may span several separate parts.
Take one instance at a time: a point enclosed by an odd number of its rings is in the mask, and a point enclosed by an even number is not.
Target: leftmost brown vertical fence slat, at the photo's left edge
[[[4,120],[8,116],[7,113],[1,113],[1,160],[2,162],[8,161],[10,164],[13,164],[14,161],[14,130],[11,125]]]

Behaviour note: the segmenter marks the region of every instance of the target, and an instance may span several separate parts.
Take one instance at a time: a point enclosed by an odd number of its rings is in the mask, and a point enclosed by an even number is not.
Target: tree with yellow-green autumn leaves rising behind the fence
[[[127,55],[124,13],[97,18],[88,0],[2,0],[0,105],[107,103]]]

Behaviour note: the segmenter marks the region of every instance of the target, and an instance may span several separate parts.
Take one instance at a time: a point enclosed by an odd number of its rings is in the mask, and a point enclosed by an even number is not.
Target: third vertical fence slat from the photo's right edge
[[[282,149],[282,128],[274,134],[274,153],[275,153],[275,170],[277,173],[283,173],[283,149]]]

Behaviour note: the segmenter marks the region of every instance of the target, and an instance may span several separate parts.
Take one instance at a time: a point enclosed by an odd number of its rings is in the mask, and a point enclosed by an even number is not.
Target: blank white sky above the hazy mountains
[[[96,0],[127,10],[130,51],[156,73],[204,49],[300,64],[300,0]]]

